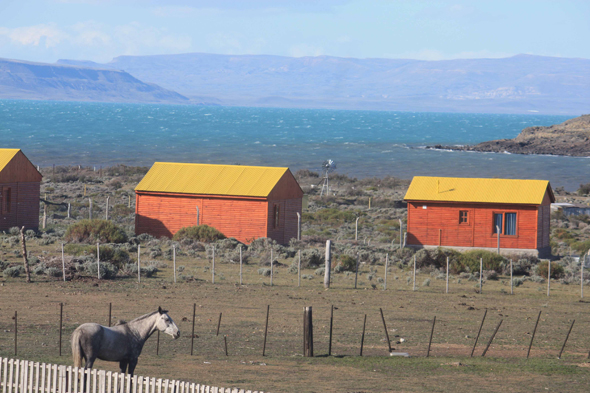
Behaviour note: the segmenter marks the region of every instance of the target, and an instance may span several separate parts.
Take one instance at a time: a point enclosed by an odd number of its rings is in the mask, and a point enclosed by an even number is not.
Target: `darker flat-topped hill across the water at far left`
[[[96,65],[98,67],[98,65]],[[0,59],[0,99],[189,103],[124,71]]]

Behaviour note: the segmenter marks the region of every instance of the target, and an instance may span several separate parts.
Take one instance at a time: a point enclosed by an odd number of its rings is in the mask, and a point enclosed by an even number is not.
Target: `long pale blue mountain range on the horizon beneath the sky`
[[[189,53],[107,64],[195,100],[225,105],[580,115],[590,60],[518,55],[421,61]]]

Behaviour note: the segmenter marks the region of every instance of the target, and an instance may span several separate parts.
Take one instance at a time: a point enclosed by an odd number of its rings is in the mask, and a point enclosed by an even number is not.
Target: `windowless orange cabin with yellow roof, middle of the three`
[[[206,224],[251,243],[297,238],[303,191],[289,168],[156,162],[135,188],[135,233]]]

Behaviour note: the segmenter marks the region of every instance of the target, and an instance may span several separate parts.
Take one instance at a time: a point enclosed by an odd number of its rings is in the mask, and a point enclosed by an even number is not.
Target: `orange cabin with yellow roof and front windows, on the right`
[[[546,180],[416,176],[404,199],[409,246],[551,254]]]

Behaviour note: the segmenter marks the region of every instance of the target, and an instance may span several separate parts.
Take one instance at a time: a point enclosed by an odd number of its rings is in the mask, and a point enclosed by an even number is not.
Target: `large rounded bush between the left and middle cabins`
[[[76,243],[125,243],[125,231],[108,220],[82,220],[68,227],[65,240]]]

